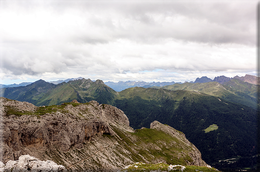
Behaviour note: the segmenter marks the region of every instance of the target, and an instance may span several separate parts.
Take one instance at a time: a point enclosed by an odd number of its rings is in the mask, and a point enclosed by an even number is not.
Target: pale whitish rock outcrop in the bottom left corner
[[[30,155],[22,155],[16,161],[9,160],[5,166],[0,168],[0,171],[66,172],[67,169],[50,160],[41,161]]]

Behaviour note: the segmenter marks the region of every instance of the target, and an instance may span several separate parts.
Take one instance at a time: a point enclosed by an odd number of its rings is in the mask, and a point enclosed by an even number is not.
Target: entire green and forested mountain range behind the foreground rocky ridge
[[[241,79],[255,82],[257,77],[219,77],[217,81],[226,82],[131,87],[120,92],[101,80],[83,78],[57,85],[39,80],[23,87],[1,88],[0,94],[37,106],[61,105],[73,99],[110,104],[123,110],[134,129],[149,128],[150,123],[159,121],[183,132],[213,167],[252,168],[257,154],[257,85]],[[204,131],[213,124],[217,130]],[[220,162],[226,159],[233,162]]]

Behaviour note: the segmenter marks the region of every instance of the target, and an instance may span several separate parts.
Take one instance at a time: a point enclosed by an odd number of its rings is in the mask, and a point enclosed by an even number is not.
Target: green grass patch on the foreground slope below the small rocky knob
[[[187,153],[191,148],[183,147],[178,139],[165,132],[143,128],[136,130],[134,136],[138,138],[135,144],[140,147],[149,145],[146,149],[138,150],[138,153],[150,162],[154,159],[164,159],[168,164],[183,165],[193,161]]]

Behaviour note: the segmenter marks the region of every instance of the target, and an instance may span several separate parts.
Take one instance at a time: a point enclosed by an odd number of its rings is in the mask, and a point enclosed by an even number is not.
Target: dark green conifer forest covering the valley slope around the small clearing
[[[144,100],[136,96],[115,100],[115,106],[124,111],[134,129],[150,128],[150,123],[157,120],[183,132],[200,150],[202,159],[213,167],[228,168],[228,165],[220,166],[219,160],[240,157],[243,157],[239,159],[240,166],[255,165],[252,158],[252,163],[247,161],[250,158],[245,158],[257,154],[257,111],[248,106],[219,101],[213,96],[203,96],[203,99],[183,97],[179,102]],[[203,131],[212,124],[219,128],[207,133]],[[234,165],[231,163],[230,166]]]

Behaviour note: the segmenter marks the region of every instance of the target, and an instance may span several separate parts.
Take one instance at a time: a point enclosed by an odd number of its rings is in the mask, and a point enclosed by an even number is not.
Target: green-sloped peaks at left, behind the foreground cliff
[[[113,101],[117,92],[101,80],[92,82],[90,79],[83,78],[57,85],[39,80],[24,87],[0,88],[0,95],[5,98],[43,106],[62,104],[73,99],[82,103],[96,100],[100,103],[109,104]]]

